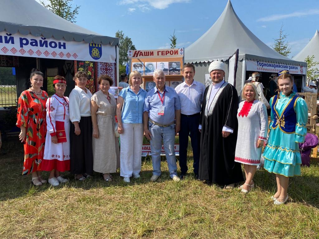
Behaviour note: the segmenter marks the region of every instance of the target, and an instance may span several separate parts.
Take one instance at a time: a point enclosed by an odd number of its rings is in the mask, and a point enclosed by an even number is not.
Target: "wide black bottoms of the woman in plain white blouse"
[[[92,120],[91,116],[81,117],[81,133],[74,134],[70,127],[70,170],[72,174],[93,174]]]

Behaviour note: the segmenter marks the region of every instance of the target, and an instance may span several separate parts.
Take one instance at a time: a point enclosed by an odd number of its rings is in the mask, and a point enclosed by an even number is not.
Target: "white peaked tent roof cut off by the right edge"
[[[307,56],[315,56],[315,61],[319,62],[319,32],[316,31],[315,35],[311,38],[308,44],[293,57],[293,60],[304,61]],[[319,68],[319,64],[315,66]]]

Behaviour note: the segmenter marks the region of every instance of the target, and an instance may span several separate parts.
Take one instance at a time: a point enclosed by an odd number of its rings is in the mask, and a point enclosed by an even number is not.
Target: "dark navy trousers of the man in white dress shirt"
[[[188,136],[193,149],[193,167],[195,176],[198,175],[199,166],[199,155],[200,155],[200,132],[198,130],[200,114],[196,114],[192,117],[187,117],[181,114],[181,130],[179,131],[179,142],[180,142],[180,159],[179,164],[181,167],[182,174],[185,174],[187,168],[187,146]]]

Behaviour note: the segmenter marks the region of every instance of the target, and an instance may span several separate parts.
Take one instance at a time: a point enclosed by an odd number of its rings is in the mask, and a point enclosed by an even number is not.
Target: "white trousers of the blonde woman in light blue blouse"
[[[132,177],[141,171],[142,144],[143,144],[143,124],[123,125],[123,134],[120,134],[120,176]]]

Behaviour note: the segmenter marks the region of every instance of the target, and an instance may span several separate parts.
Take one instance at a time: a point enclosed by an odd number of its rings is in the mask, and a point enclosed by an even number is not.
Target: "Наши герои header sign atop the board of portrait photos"
[[[127,56],[132,58],[183,57],[184,48],[160,50],[128,50]]]

